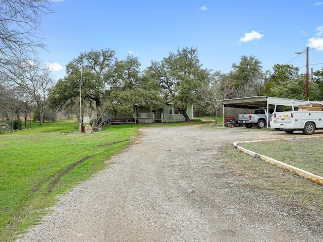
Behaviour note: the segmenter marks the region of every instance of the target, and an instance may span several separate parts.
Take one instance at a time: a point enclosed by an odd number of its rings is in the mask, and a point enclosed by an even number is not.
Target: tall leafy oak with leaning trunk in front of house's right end
[[[185,47],[169,53],[162,61],[151,62],[149,76],[158,82],[164,102],[180,110],[185,120],[190,120],[186,109],[196,100],[195,93],[208,82],[208,70],[202,69],[197,49]]]

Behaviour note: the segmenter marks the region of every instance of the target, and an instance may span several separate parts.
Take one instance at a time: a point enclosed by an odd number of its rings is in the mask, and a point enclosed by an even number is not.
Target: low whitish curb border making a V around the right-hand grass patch
[[[295,166],[292,166],[292,165],[288,165],[286,163],[283,163],[279,160],[275,160],[275,159],[272,159],[268,156],[265,156],[265,155],[261,155],[261,154],[257,154],[251,150],[247,150],[245,148],[242,148],[241,146],[239,146],[238,144],[243,144],[243,143],[254,143],[254,142],[262,142],[262,141],[277,141],[277,140],[295,140],[295,139],[310,139],[310,138],[317,138],[317,137],[323,137],[323,136],[314,136],[314,137],[297,137],[297,138],[284,138],[284,139],[271,139],[271,140],[252,140],[252,141],[236,141],[233,143],[233,146],[235,149],[237,149],[238,151],[240,152],[243,152],[243,153],[246,153],[246,154],[249,154],[255,158],[259,158],[261,160],[264,160],[268,163],[271,163],[273,165],[276,165],[280,168],[283,168],[285,170],[288,170],[294,174],[297,174],[301,177],[304,177],[306,179],[309,179],[311,180],[313,183],[316,183],[316,184],[319,184],[319,185],[322,185],[323,186],[323,177],[321,176],[318,176],[318,175],[314,175],[306,170],[302,170],[302,169],[299,169]]]

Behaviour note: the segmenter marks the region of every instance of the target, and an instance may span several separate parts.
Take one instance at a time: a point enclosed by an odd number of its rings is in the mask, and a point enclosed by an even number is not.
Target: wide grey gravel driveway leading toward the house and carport
[[[210,164],[222,145],[277,132],[199,125],[141,132],[111,168],[62,196],[17,241],[323,241],[276,196]]]

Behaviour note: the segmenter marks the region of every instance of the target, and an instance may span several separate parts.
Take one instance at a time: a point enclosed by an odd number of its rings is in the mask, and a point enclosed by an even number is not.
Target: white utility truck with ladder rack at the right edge
[[[298,105],[298,110],[294,109],[292,101],[292,110],[277,112],[277,105],[275,104],[275,111],[271,117],[271,128],[285,131],[288,134],[294,131],[301,130],[305,135],[311,135],[316,129],[323,129],[323,102],[305,101]]]

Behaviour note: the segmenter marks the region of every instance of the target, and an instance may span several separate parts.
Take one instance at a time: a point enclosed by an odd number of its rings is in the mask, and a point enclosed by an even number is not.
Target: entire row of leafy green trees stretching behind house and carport
[[[189,120],[187,107],[192,105],[199,113],[217,116],[222,99],[257,95],[304,99],[305,76],[298,68],[277,64],[273,71],[263,73],[261,62],[252,55],[242,55],[227,74],[203,69],[193,47],[169,52],[143,71],[140,67],[138,57],[128,55],[119,60],[111,49],[82,52],[68,63],[66,77],[51,89],[49,103],[55,108],[77,106],[80,81],[82,100],[101,113],[105,109],[130,114],[136,105],[153,109],[168,104],[185,120]],[[319,71],[314,74],[310,97],[317,100],[323,93],[323,75]]]

